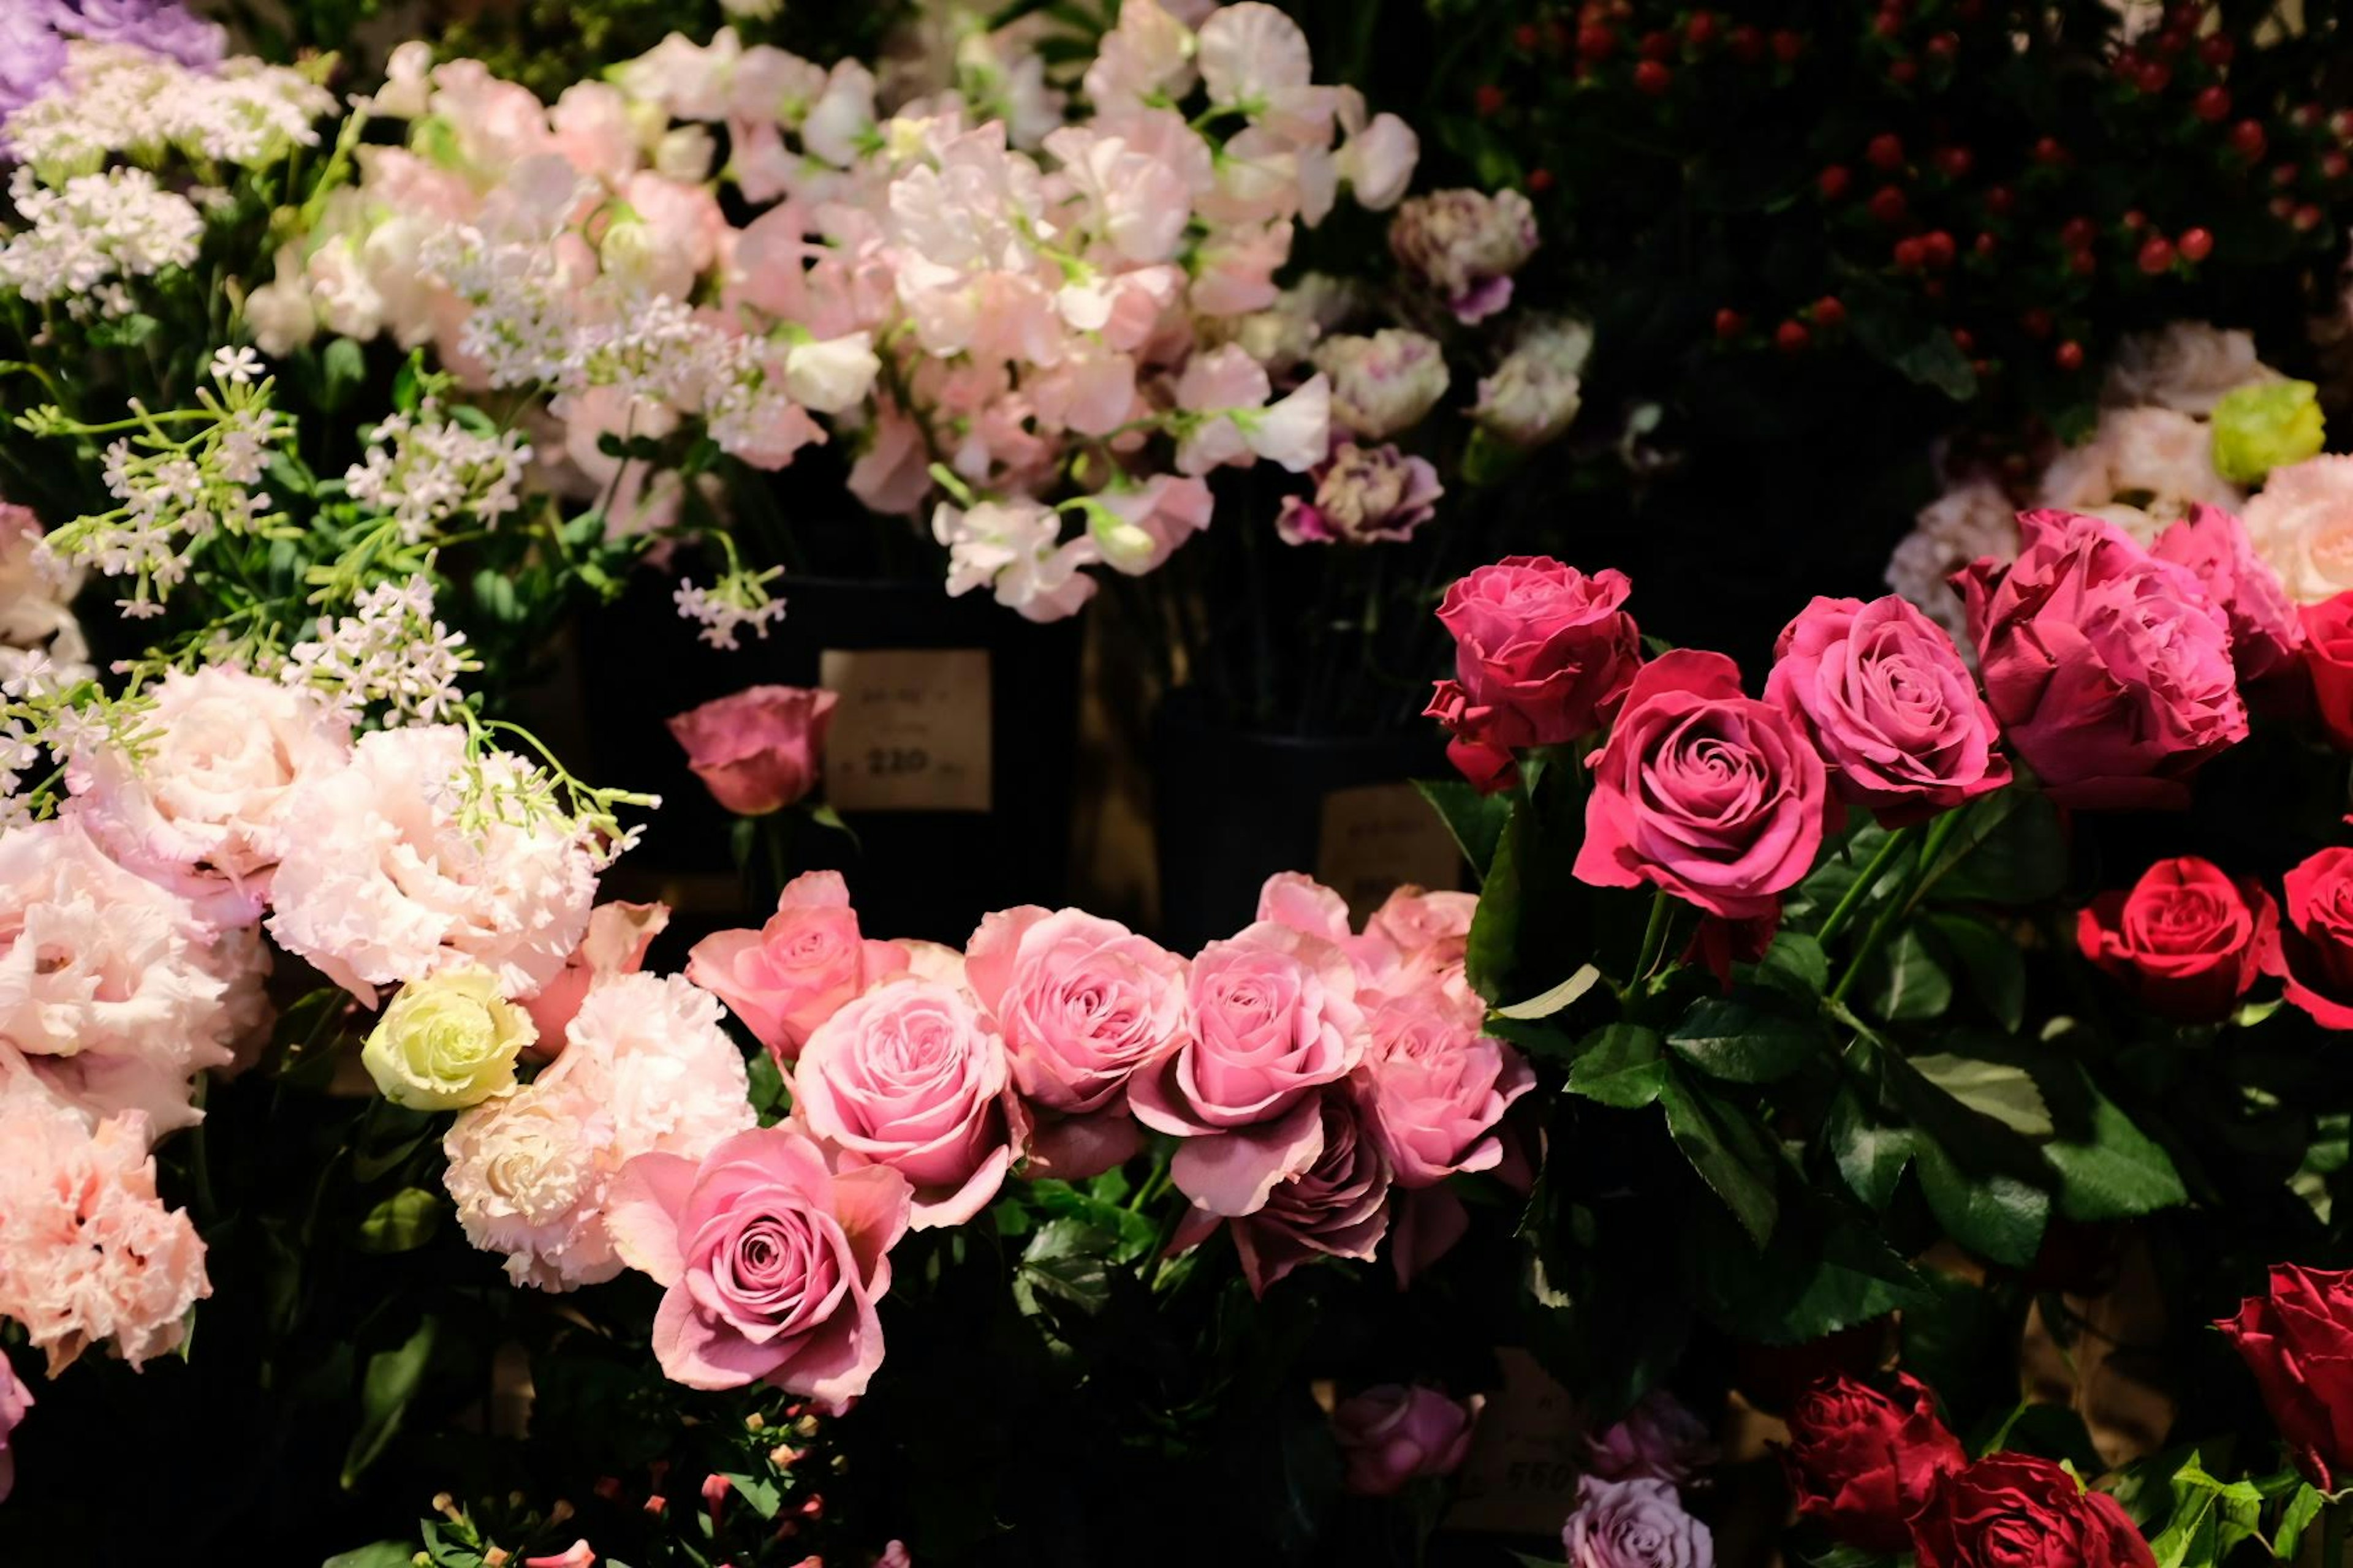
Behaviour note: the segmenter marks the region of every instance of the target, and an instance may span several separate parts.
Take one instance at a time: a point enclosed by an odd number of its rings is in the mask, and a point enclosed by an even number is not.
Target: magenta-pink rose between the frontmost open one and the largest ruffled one
[[[1805,722],[1849,806],[1901,827],[2009,783],[1960,649],[1897,595],[1814,599],[1774,654],[1765,701]]]

